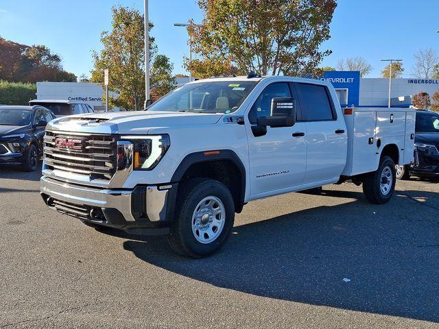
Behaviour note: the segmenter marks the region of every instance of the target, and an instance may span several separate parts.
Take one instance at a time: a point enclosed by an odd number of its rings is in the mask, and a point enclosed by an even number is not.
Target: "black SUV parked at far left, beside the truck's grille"
[[[42,106],[0,106],[0,164],[34,171],[43,154],[43,136],[55,114]]]

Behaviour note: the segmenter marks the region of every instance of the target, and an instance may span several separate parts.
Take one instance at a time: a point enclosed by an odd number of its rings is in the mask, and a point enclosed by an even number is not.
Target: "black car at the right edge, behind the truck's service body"
[[[439,114],[417,110],[414,138],[414,162],[396,166],[396,177],[407,180],[410,175],[439,178]]]

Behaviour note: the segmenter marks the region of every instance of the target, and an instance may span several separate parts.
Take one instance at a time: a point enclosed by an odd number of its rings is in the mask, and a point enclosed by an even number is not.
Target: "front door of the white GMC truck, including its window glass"
[[[306,127],[298,122],[292,127],[266,127],[257,136],[257,117],[269,117],[274,97],[293,97],[296,92],[288,82],[274,82],[266,86],[252,104],[246,124],[250,162],[250,195],[253,198],[276,194],[276,190],[302,184],[306,167]]]

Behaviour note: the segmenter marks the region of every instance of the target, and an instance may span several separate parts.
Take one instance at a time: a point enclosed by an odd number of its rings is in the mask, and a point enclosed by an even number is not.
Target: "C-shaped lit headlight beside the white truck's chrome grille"
[[[169,135],[122,136],[134,145],[133,169],[151,170],[163,158],[169,145]]]

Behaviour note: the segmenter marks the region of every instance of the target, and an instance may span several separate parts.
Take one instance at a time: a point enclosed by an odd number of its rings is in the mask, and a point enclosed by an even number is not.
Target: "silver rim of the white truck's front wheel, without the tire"
[[[221,234],[226,221],[226,210],[222,201],[210,195],[195,207],[192,215],[192,233],[200,243],[211,243]]]

